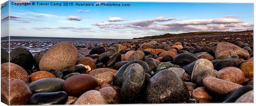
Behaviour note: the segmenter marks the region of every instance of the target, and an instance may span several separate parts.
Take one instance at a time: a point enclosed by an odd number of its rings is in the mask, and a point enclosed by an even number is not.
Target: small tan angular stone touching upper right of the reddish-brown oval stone
[[[113,73],[112,73],[113,74]],[[104,72],[95,75],[95,80],[98,86],[101,86],[103,83],[111,83],[113,81],[113,75],[109,72]]]

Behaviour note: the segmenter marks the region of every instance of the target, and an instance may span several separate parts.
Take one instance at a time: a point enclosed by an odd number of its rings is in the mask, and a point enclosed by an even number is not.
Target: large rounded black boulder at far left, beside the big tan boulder
[[[10,62],[21,66],[25,70],[31,70],[34,64],[34,58],[27,49],[17,47],[10,52]]]

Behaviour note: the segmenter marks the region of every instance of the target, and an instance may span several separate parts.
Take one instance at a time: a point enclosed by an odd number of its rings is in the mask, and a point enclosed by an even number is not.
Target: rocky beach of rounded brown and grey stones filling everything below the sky
[[[10,51],[2,42],[1,101],[253,103],[253,38],[253,31],[244,31],[101,42],[11,40]]]

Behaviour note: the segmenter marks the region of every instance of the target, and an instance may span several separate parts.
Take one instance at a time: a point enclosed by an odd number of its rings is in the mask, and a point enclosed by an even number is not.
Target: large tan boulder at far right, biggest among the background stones
[[[249,53],[246,50],[238,47],[237,45],[227,42],[218,43],[215,51],[215,56],[218,57],[224,54],[228,57],[236,54],[239,56],[239,58],[242,58],[244,60],[250,59]]]

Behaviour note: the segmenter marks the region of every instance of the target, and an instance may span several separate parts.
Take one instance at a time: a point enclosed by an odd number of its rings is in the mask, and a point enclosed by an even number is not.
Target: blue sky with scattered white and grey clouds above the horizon
[[[130,39],[166,33],[253,29],[252,3],[103,2],[130,5],[107,7],[63,6],[59,1],[53,3],[62,6],[17,6],[12,2],[22,3],[10,1],[10,14],[3,14],[5,9],[1,9],[1,25],[9,22],[10,36]],[[73,2],[76,3],[83,2]],[[10,21],[6,20],[8,17]],[[1,32],[1,37],[7,35]]]

